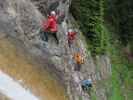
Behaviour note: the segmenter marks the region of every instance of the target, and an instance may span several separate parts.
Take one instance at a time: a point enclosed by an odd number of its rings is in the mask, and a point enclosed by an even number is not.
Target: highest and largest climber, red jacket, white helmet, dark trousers
[[[48,16],[48,20],[46,22],[43,22],[42,27],[43,27],[43,40],[48,42],[48,33],[51,33],[56,39],[57,44],[59,44],[57,38],[58,24],[57,24],[57,16],[55,11],[51,11],[50,16]]]

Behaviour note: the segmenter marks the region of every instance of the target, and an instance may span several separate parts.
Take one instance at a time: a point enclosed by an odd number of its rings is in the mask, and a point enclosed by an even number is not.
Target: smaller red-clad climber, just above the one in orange
[[[72,29],[69,29],[67,37],[68,37],[68,45],[69,45],[69,47],[71,47],[71,44],[73,43],[73,41],[76,38],[76,32],[74,32]]]

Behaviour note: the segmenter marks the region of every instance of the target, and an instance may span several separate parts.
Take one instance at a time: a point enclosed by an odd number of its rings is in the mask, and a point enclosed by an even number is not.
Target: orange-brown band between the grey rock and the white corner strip
[[[10,39],[0,40],[0,70],[32,91],[40,100],[67,100],[64,88]]]

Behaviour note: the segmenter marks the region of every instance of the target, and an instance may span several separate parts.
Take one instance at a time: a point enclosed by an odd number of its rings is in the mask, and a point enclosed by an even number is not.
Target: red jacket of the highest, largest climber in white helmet
[[[57,19],[56,16],[49,16],[47,22],[43,22],[44,31],[57,32]]]

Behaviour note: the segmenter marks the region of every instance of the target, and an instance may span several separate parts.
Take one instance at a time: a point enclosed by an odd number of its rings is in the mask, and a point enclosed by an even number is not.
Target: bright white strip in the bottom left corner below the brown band
[[[39,100],[17,81],[0,71],[0,92],[12,100]]]

